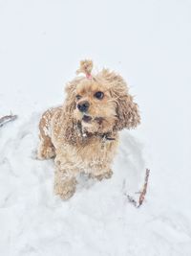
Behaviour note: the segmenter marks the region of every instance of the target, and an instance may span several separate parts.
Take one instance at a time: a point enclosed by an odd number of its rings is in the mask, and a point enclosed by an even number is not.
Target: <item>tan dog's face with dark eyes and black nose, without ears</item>
[[[109,132],[117,122],[117,105],[109,86],[98,81],[81,81],[75,88],[74,118],[86,131]]]

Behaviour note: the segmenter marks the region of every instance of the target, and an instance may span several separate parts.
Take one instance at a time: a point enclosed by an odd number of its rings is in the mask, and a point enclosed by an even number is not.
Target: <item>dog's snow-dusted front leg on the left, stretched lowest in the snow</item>
[[[62,199],[73,197],[76,187],[75,170],[73,166],[60,163],[55,159],[54,193]]]

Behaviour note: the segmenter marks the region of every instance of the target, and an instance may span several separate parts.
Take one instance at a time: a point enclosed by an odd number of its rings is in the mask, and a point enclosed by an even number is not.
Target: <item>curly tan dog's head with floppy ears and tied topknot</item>
[[[86,63],[86,77],[75,79],[67,87],[67,109],[74,121],[90,133],[136,128],[140,121],[138,105],[129,94],[126,82],[107,69],[92,76],[87,71],[90,62],[83,63]]]

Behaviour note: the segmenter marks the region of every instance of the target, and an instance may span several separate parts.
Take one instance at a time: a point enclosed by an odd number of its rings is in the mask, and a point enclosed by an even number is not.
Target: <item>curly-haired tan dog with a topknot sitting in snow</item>
[[[86,76],[68,83],[64,105],[47,110],[39,124],[38,157],[55,157],[54,192],[64,199],[74,195],[79,173],[111,177],[118,131],[140,122],[126,82],[108,69],[92,75],[92,68],[91,60],[80,62],[77,74]]]

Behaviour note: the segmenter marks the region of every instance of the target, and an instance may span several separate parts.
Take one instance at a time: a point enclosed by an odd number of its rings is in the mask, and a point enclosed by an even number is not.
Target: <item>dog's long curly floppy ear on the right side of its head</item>
[[[108,69],[103,69],[102,77],[110,87],[111,95],[117,105],[117,123],[116,129],[136,128],[140,123],[138,105],[134,102],[133,97],[129,94],[126,82],[121,76]]]

